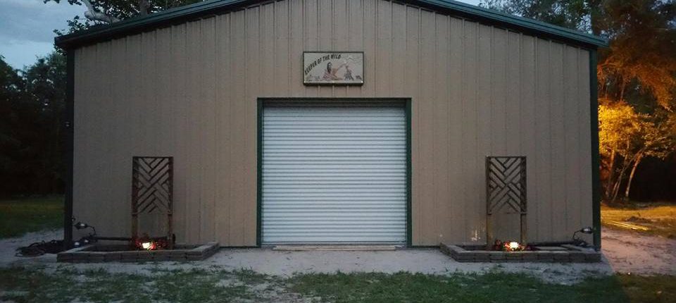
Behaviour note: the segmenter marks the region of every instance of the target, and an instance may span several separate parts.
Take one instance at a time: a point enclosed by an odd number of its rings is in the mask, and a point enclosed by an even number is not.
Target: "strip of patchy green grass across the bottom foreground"
[[[524,274],[301,274],[0,268],[0,302],[675,302],[676,277],[618,275],[553,285]]]

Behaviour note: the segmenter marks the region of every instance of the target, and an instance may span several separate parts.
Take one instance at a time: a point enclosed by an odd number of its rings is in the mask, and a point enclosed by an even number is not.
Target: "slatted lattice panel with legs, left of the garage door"
[[[132,159],[132,237],[138,236],[138,215],[167,216],[168,237],[172,235],[173,157],[134,156]]]

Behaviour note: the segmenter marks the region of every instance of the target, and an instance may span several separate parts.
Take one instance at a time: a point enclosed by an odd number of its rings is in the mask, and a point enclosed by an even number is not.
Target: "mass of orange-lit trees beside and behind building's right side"
[[[484,0],[482,6],[608,38],[597,68],[602,192],[615,200],[625,185],[628,199],[639,163],[664,159],[675,147],[676,3]]]

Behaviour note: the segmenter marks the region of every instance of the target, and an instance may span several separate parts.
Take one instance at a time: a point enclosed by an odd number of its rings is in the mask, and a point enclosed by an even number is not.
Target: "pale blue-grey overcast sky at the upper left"
[[[479,0],[461,0],[477,5]],[[65,30],[67,20],[84,18],[84,6],[43,0],[0,0],[0,56],[14,68],[23,68],[54,50],[54,30]]]

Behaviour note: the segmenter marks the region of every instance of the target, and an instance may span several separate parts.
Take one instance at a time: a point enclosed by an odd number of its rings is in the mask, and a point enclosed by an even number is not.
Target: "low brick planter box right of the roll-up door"
[[[523,252],[493,252],[485,245],[439,245],[442,252],[458,262],[545,262],[593,263],[601,261],[601,253],[575,245],[560,245],[561,250],[530,250]]]

